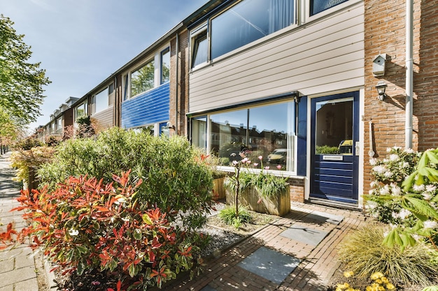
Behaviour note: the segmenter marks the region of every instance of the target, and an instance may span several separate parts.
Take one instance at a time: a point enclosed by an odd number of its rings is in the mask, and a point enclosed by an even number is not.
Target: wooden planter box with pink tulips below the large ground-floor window
[[[234,193],[226,191],[227,204],[234,204]],[[254,188],[250,188],[239,193],[239,205],[248,207],[249,210],[264,214],[284,216],[290,211],[290,193],[289,186],[275,197],[262,198],[257,203],[259,196]]]

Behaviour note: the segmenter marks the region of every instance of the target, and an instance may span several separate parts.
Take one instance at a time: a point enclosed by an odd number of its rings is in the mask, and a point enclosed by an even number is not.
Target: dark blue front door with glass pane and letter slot
[[[358,203],[359,92],[311,99],[313,198]]]

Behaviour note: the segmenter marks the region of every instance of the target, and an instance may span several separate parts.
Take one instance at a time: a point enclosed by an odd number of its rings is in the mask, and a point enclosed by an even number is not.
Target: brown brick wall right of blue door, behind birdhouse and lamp
[[[404,147],[406,31],[404,0],[365,0],[365,169],[369,190],[369,121],[374,124],[375,158],[388,147]],[[438,147],[438,1],[414,1],[414,117],[413,148]],[[386,73],[372,74],[376,55],[386,53]],[[375,85],[388,84],[385,100],[377,100]]]

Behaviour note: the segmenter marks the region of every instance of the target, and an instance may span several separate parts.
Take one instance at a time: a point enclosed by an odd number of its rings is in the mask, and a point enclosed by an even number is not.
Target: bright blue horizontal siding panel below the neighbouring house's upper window
[[[170,83],[122,102],[122,128],[135,128],[169,120]]]

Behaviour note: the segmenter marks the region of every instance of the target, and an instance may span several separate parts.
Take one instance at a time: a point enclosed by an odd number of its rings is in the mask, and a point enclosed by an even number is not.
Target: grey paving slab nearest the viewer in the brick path
[[[297,258],[262,246],[239,262],[238,266],[280,284],[298,266],[299,262],[301,260]]]

